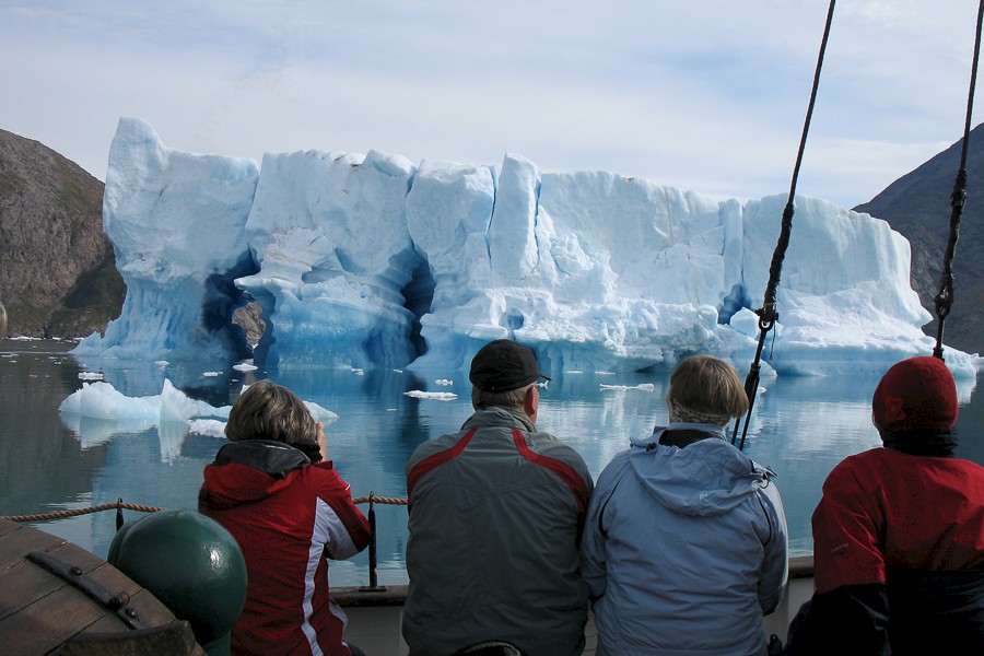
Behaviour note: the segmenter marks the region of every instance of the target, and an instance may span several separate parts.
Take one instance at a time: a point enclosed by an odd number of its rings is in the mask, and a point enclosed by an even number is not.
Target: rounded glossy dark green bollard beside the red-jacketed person
[[[229,656],[246,602],[246,561],[236,539],[195,511],[162,511],[128,522],[106,561],[187,620],[209,656]]]

